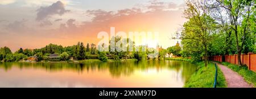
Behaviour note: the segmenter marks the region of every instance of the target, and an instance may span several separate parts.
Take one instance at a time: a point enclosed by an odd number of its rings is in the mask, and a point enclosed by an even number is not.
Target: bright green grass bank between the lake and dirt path
[[[213,88],[215,66],[213,63],[209,63],[207,67],[204,66],[204,62],[196,63],[197,71],[189,78],[185,83],[185,88]],[[217,76],[217,88],[227,87],[227,83],[220,68],[218,68]]]

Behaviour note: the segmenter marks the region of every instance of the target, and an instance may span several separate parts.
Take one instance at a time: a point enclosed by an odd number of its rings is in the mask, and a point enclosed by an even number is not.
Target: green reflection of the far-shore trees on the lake
[[[148,69],[156,69],[157,72],[162,68],[174,70],[177,73],[182,72],[183,79],[188,79],[196,70],[194,64],[180,61],[138,61],[138,62],[90,62],[90,63],[0,63],[0,68],[6,71],[12,67],[37,68],[48,72],[58,72],[70,70],[73,72],[97,72],[109,70],[110,75],[119,78],[121,75],[130,76],[135,70],[147,72]]]

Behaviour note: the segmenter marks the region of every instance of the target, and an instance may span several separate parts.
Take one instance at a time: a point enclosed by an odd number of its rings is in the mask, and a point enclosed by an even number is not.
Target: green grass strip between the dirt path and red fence
[[[246,66],[238,66],[227,62],[222,62],[222,64],[237,72],[247,83],[253,84],[256,87],[256,72],[249,70]]]

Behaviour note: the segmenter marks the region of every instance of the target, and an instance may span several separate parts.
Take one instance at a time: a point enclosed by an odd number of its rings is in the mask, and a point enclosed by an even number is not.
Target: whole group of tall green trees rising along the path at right
[[[181,55],[193,60],[212,55],[256,52],[256,3],[254,0],[188,0],[183,14],[187,22],[177,33]]]

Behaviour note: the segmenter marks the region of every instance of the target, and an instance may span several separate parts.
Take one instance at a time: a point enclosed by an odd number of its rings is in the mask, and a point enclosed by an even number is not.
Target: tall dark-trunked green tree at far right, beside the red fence
[[[216,0],[212,8],[219,11],[216,19],[228,19],[224,25],[228,25],[230,33],[234,33],[236,41],[236,50],[238,54],[238,64],[242,66],[241,53],[250,50],[253,46],[253,39],[255,37],[255,1],[253,0]],[[225,13],[226,15],[223,15]],[[252,26],[252,27],[251,27]],[[251,47],[253,48],[253,47]],[[253,49],[251,49],[253,50]]]

